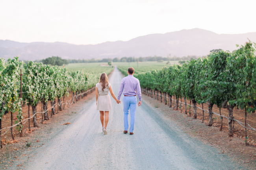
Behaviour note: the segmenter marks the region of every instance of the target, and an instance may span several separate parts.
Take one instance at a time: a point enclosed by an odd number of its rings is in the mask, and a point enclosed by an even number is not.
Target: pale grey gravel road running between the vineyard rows
[[[118,93],[122,75],[110,78]],[[71,124],[38,148],[27,170],[82,169],[241,169],[228,157],[182,132],[152,106],[137,107],[134,135],[123,134],[122,104],[112,101],[108,135],[103,135],[95,99],[85,103]]]

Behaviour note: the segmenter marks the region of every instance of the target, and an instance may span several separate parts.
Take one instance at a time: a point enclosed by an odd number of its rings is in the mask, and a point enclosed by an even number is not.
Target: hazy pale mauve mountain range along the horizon
[[[236,44],[256,42],[256,32],[217,34],[204,29],[183,29],[165,34],[150,34],[128,41],[104,42],[96,45],[74,45],[65,42],[15,42],[0,40],[0,57],[19,56],[20,60],[41,60],[59,56],[65,59],[100,59],[115,57],[183,57],[204,56],[212,49],[233,51]]]

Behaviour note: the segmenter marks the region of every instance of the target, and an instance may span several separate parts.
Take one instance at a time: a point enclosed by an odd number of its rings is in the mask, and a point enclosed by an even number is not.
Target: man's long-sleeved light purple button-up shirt
[[[124,95],[138,95],[139,101],[141,101],[141,86],[139,85],[139,80],[134,75],[128,75],[122,79],[117,97],[118,100],[120,100],[123,91]]]

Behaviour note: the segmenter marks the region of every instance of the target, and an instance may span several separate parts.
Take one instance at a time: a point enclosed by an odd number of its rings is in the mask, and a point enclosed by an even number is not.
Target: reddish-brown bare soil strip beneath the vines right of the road
[[[166,119],[171,119],[174,121],[179,128],[184,131],[184,133],[195,137],[203,143],[207,143],[218,148],[220,150],[219,154],[228,155],[239,165],[246,167],[246,169],[256,170],[256,145],[254,143],[254,140],[256,140],[255,132],[249,131],[248,134],[250,142],[249,146],[246,146],[243,137],[245,130],[244,128],[241,128],[238,123],[235,123],[234,137],[229,137],[228,122],[225,119],[223,119],[223,130],[220,131],[220,119],[215,115],[213,115],[215,118],[213,121],[213,126],[209,127],[207,126],[209,119],[208,113],[205,113],[205,121],[202,123],[202,112],[201,110],[199,111],[199,109],[197,109],[197,119],[193,119],[193,114],[191,114],[191,116],[189,116],[189,114],[185,114],[184,106],[182,107],[181,113],[180,108],[178,111],[174,111],[173,107],[169,108],[167,105],[155,100],[154,97],[151,98],[147,95],[143,95],[142,101],[145,101],[155,107],[157,110],[163,113]],[[182,102],[184,102],[184,99]],[[187,101],[187,104],[189,104],[189,101]],[[201,107],[201,105],[197,106]],[[205,104],[204,109],[208,110],[207,108],[208,107]],[[189,111],[189,109],[187,111]],[[214,106],[213,112],[218,113],[218,111],[219,108]],[[227,115],[228,113],[228,111],[225,111],[223,108],[221,108],[221,112],[223,112],[222,115]],[[191,113],[193,113],[193,108],[191,108]],[[235,119],[239,120],[244,119],[243,111],[234,109],[234,117]],[[255,113],[249,115],[247,119],[249,120],[249,124],[252,125],[252,127],[255,127]]]

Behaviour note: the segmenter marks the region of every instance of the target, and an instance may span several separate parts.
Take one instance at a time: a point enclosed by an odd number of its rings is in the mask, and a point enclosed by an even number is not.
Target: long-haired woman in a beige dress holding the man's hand
[[[108,94],[108,91],[110,91],[111,96],[115,99],[117,104],[120,103],[120,101],[117,100],[117,98],[115,97],[111,84],[109,84],[108,82],[108,76],[106,73],[102,73],[100,75],[100,80],[96,84],[95,91],[96,91],[96,106],[97,106],[97,110],[100,111],[100,121],[102,124],[102,131],[104,135],[106,135],[107,134],[106,128],[108,125],[108,115],[109,115],[109,111],[112,109],[111,99]],[[104,120],[104,115],[105,115],[105,120]]]

